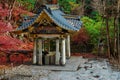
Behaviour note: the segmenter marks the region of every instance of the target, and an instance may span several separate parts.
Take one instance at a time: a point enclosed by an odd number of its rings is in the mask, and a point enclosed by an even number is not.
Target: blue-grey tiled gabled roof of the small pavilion
[[[65,30],[78,31],[82,26],[82,22],[80,21],[80,19],[66,15],[59,9],[59,6],[46,5],[42,8],[40,8],[39,13],[36,14],[35,16],[26,17],[27,19],[25,21],[23,21],[22,25],[19,26],[16,29],[16,31],[24,30],[24,29],[27,29],[28,27],[32,26],[43,11],[53,20],[53,22],[56,25],[58,25],[59,27],[65,29]]]

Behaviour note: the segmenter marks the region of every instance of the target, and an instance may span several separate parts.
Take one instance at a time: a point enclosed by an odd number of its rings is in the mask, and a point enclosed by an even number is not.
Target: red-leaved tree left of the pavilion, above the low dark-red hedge
[[[13,22],[12,19],[11,21],[6,19],[9,16],[9,8],[7,7],[7,4],[5,5],[4,5],[5,7],[3,7],[3,4],[0,4],[0,51],[32,49],[32,44],[24,43],[23,41],[17,38],[13,38],[10,35],[9,32],[14,30],[13,29],[14,26],[11,25],[10,23],[10,22]],[[18,15],[16,14],[33,15],[32,13],[19,9],[19,7],[13,9],[12,17],[17,18]],[[28,45],[30,46],[27,47]]]

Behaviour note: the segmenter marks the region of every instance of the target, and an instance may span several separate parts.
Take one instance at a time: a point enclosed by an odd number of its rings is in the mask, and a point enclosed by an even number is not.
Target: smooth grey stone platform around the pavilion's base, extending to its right
[[[87,62],[87,59],[83,59],[82,57],[71,57],[66,61],[65,66],[53,66],[53,65],[43,65],[43,66],[30,66],[33,69],[42,69],[42,70],[51,70],[51,71],[76,71],[80,64]]]

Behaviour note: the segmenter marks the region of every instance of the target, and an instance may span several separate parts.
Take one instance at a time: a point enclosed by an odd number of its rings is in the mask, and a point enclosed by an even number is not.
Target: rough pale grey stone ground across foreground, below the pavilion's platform
[[[106,59],[80,59],[77,70],[55,70],[21,65],[6,71],[14,74],[8,80],[120,80],[120,72],[113,71]],[[83,60],[83,62],[82,62]]]

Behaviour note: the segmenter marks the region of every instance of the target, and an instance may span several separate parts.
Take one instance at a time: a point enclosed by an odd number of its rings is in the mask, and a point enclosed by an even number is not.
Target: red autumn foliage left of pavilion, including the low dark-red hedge
[[[20,9],[19,7],[14,8],[12,11],[12,17],[19,20],[19,14],[33,15],[31,12]],[[14,20],[8,20],[10,15],[10,9],[8,5],[0,4],[0,64],[4,64],[8,61],[8,57],[12,63],[23,63],[30,59],[28,55],[19,53],[10,53],[10,51],[17,50],[31,50],[33,49],[33,43],[28,41],[21,41],[16,37],[15,34],[11,35],[11,31],[14,30],[16,25],[13,25]],[[12,22],[12,23],[11,23]],[[9,56],[8,56],[9,55]]]

